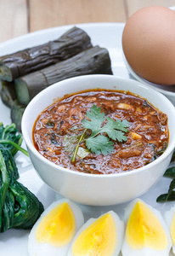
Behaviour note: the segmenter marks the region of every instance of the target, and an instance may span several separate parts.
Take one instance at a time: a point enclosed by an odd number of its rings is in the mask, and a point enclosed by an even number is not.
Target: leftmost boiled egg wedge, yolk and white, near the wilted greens
[[[64,256],[84,224],[82,209],[68,199],[54,201],[34,224],[28,239],[30,256]]]

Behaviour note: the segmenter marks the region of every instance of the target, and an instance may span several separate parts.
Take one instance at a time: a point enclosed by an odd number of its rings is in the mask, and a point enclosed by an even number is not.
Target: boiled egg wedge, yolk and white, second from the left
[[[124,224],[116,212],[90,218],[78,230],[68,256],[112,256],[121,251]]]

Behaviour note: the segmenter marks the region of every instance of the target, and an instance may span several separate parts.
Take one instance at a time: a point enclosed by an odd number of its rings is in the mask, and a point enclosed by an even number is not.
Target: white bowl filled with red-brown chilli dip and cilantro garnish
[[[162,177],[175,147],[175,108],[131,79],[88,75],[42,90],[22,133],[42,180],[60,195],[108,206],[143,195]]]

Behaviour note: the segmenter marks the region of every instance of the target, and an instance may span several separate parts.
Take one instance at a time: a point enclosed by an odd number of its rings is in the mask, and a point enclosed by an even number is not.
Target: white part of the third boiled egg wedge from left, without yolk
[[[135,206],[135,204],[138,201],[141,201],[141,200],[140,199],[133,200],[125,209],[124,222],[126,224],[126,228],[127,228],[127,220],[130,217],[131,212],[133,211],[133,207]],[[171,241],[171,237],[169,236],[169,230],[167,228],[165,219],[162,217],[161,212],[155,210],[155,208],[153,208],[153,207],[150,207],[150,205],[146,204],[144,201],[142,201],[142,202],[147,207],[150,208],[150,211],[153,212],[155,214],[155,216],[161,222],[163,230],[165,230],[166,235],[167,235],[168,245],[167,245],[166,249],[164,249],[164,250],[155,250],[150,247],[144,247],[142,249],[135,249],[128,244],[127,239],[126,239],[126,233],[125,233],[123,244],[121,247],[122,256],[128,256],[128,255],[129,256],[169,256],[169,252],[172,247],[172,241]]]

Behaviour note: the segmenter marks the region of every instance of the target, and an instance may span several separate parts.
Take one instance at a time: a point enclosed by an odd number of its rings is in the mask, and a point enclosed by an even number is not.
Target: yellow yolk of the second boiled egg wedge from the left
[[[110,256],[116,247],[116,224],[110,213],[106,213],[76,238],[72,254],[76,256]]]

